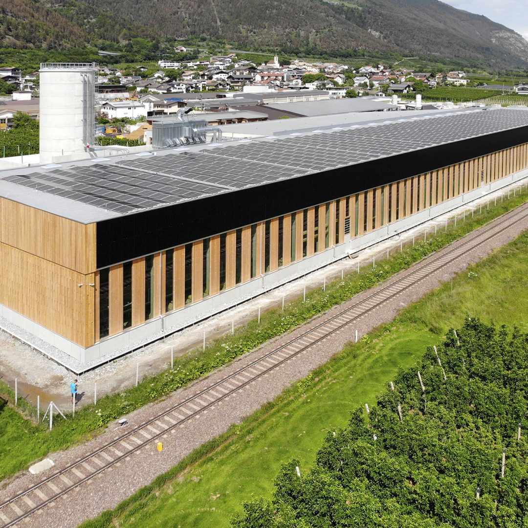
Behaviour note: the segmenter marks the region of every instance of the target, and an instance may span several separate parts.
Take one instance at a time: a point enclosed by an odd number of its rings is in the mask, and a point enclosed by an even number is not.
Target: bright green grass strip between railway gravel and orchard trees
[[[450,284],[414,304],[394,322],[374,333],[370,344],[348,346],[314,376],[286,391],[225,436],[221,449],[190,470],[172,473],[161,489],[143,493],[118,507],[118,526],[229,526],[241,503],[270,496],[282,463],[297,458],[306,467],[325,430],[343,427],[348,411],[373,403],[374,395],[440,341],[467,314],[500,324],[528,324],[528,234],[495,252]],[[234,432],[234,434],[233,434]],[[182,465],[183,467],[184,465]],[[215,498],[216,497],[216,498]],[[111,514],[85,523],[110,526]]]

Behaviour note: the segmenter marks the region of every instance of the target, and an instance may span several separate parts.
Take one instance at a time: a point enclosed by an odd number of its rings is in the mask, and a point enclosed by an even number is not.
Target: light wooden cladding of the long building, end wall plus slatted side
[[[99,271],[96,224],[1,198],[0,303],[89,347],[102,337],[343,243],[346,235],[360,237],[526,167],[525,144]],[[167,291],[171,303],[166,303]]]

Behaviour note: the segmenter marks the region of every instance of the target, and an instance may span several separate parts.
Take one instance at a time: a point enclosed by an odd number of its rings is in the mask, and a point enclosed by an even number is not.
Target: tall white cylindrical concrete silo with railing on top
[[[87,152],[95,134],[96,63],[40,65],[40,163]]]

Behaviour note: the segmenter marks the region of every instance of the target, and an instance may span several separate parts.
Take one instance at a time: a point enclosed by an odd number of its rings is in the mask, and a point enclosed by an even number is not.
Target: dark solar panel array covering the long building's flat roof
[[[528,111],[473,110],[353,125],[278,139],[128,156],[3,178],[121,214],[528,125]]]

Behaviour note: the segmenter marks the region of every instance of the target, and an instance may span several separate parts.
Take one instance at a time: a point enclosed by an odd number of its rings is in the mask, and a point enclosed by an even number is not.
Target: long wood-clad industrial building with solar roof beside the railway
[[[372,116],[0,172],[0,316],[94,365],[528,175],[526,110]]]

